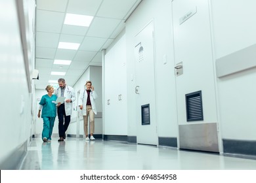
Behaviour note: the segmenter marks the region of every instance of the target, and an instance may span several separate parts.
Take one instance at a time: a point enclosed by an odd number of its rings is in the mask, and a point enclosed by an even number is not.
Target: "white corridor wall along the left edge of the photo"
[[[33,9],[34,2],[28,2],[28,5]],[[30,18],[33,17],[27,18],[31,21]],[[26,142],[30,141],[33,93],[29,91],[32,80],[28,82],[26,75],[16,1],[0,1],[0,22],[0,84],[3,104],[0,112],[0,167],[4,169],[16,168],[22,155],[25,154]],[[33,37],[33,34],[30,36]],[[31,40],[30,37],[28,40]],[[28,43],[33,49],[33,42]],[[32,60],[27,61],[32,62]],[[7,158],[11,161],[3,165]]]

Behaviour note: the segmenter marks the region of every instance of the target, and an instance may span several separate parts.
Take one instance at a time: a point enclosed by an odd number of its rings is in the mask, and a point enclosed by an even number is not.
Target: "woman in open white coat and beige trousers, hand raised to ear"
[[[93,133],[95,133],[95,114],[97,114],[95,99],[98,97],[95,89],[91,85],[91,81],[87,81],[86,90],[81,95],[79,105],[80,109],[83,112],[83,130],[85,131],[85,140],[94,141]],[[88,136],[88,116],[90,120],[90,138]]]

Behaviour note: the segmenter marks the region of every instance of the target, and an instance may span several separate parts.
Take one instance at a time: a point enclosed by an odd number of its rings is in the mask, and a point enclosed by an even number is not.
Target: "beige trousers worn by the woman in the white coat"
[[[91,108],[91,105],[86,106],[86,116],[83,116],[83,131],[85,131],[85,136],[88,136],[88,116],[90,120],[90,133],[95,133],[95,113]]]

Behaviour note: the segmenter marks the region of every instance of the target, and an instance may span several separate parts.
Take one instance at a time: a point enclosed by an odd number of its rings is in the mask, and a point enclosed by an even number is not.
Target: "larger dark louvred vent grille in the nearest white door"
[[[186,94],[186,121],[202,121],[203,104],[202,91]]]

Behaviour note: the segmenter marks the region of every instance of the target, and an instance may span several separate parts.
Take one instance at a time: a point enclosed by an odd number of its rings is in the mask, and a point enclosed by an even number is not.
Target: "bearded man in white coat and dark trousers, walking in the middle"
[[[72,113],[72,103],[75,101],[75,90],[71,86],[67,86],[64,78],[58,79],[58,86],[56,90],[57,97],[66,97],[64,103],[57,105],[58,114],[58,135],[60,139],[58,141],[64,141],[66,139],[66,130],[70,124],[70,115]]]

